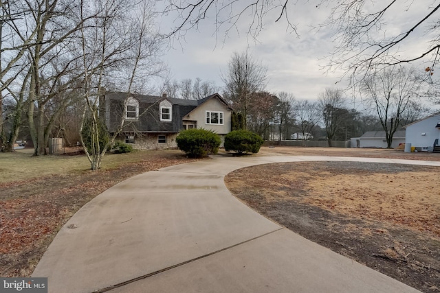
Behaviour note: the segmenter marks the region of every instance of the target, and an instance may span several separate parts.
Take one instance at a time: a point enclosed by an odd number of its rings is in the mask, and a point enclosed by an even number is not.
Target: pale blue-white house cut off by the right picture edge
[[[434,142],[440,141],[440,112],[404,126],[406,129],[406,143],[420,150],[434,150]],[[439,148],[437,148],[437,151]]]

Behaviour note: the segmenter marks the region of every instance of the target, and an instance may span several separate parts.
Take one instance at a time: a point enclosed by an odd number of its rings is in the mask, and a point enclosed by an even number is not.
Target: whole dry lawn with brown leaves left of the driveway
[[[59,228],[105,189],[142,172],[195,161],[179,150],[85,155],[0,153],[0,276],[29,277]]]

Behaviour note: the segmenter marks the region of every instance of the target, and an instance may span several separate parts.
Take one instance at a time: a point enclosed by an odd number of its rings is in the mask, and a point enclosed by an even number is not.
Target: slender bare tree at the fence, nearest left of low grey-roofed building
[[[331,147],[331,141],[342,126],[342,121],[344,121],[342,112],[347,110],[343,108],[345,100],[340,89],[327,88],[323,93],[320,93],[318,102],[320,104],[322,121],[325,125],[327,143]]]

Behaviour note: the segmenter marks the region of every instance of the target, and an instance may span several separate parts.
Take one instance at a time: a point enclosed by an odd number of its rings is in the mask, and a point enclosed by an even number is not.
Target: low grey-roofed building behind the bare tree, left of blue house
[[[354,141],[355,140],[355,141]],[[393,135],[391,148],[405,142],[405,130],[397,130]],[[361,137],[351,139],[351,148],[386,148],[384,131],[367,131]]]

